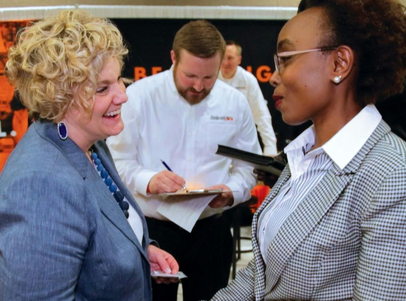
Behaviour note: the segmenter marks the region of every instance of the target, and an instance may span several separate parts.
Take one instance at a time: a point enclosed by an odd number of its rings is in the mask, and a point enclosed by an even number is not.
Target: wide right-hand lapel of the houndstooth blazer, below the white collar
[[[296,210],[289,215],[276,234],[274,241],[268,247],[267,262],[272,264],[268,264],[265,271],[266,293],[272,290],[283,273],[288,260],[302,241],[320,223],[324,215],[350,183],[371,148],[389,131],[390,127],[382,120],[350,163],[343,170],[333,163],[332,168],[320,183],[311,190],[304,200],[300,202]],[[272,194],[272,198],[274,196],[276,196],[276,193]],[[271,198],[271,195],[269,198]]]

